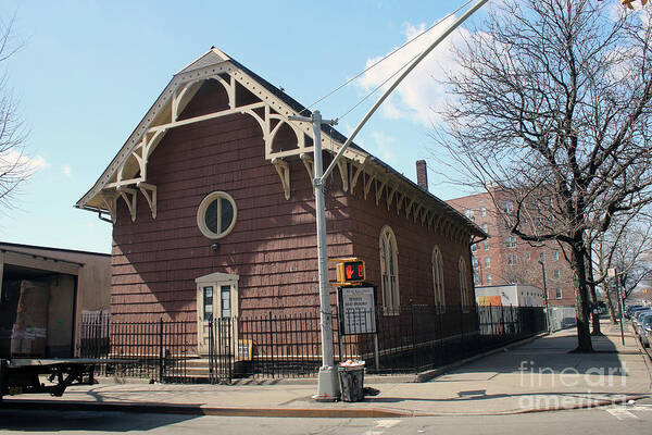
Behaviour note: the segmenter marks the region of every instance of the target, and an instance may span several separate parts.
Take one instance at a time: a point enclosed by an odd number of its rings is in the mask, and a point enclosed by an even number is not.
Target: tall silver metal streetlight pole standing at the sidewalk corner
[[[324,166],[322,163],[322,124],[336,124],[335,121],[322,120],[322,113],[315,110],[311,117],[289,116],[292,121],[304,121],[313,124],[314,166],[313,186],[315,190],[315,214],[317,221],[317,268],[319,276],[319,323],[322,334],[322,366],[317,394],[313,397],[319,401],[339,399],[340,388],[333,357],[333,325],[330,313],[330,293],[328,291],[328,256],[326,252],[326,207],[324,204]]]

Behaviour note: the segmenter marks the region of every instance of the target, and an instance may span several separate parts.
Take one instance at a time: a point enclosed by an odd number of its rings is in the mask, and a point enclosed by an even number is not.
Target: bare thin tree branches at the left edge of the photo
[[[25,156],[26,133],[4,67],[18,49],[12,40],[12,24],[13,20],[7,24],[0,21],[0,210],[13,206],[17,189],[33,173]]]

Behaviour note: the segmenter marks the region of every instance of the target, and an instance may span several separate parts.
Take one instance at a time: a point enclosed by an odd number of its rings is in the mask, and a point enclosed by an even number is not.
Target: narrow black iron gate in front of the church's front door
[[[209,380],[211,384],[229,384],[234,375],[235,334],[231,318],[209,322]]]

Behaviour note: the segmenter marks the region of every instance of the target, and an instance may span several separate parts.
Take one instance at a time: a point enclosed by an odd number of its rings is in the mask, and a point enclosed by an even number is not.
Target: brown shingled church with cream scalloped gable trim
[[[310,112],[215,48],[173,76],[76,204],[113,222],[112,319],[196,331],[205,313],[318,307],[312,126],[297,114]],[[327,165],[346,138],[322,140]],[[344,157],[327,182],[328,256],[366,262],[388,316],[474,311],[484,232],[362,148]]]

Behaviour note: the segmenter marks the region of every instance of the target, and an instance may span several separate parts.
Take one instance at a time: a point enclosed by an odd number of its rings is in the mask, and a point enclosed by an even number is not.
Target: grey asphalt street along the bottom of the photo
[[[273,419],[122,412],[10,411],[0,409],[2,434],[605,434],[652,433],[652,400],[634,406],[489,417],[405,419]]]

